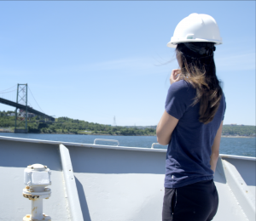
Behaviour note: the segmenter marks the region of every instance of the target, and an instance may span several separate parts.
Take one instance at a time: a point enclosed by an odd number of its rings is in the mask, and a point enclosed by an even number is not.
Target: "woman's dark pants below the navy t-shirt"
[[[208,221],[218,209],[213,180],[165,190],[162,221]]]

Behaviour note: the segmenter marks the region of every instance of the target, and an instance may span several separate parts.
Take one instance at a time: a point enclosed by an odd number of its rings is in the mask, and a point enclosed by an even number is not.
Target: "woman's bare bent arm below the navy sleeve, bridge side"
[[[166,111],[156,127],[157,142],[162,145],[170,143],[172,131],[177,125],[177,118],[169,115]]]

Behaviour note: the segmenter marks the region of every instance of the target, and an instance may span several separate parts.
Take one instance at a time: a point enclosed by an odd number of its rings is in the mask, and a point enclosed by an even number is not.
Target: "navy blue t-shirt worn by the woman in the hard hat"
[[[212,144],[224,119],[225,98],[220,100],[212,122],[199,122],[200,102],[191,105],[196,90],[183,80],[172,83],[166,98],[166,112],[177,118],[177,126],[166,153],[166,188],[177,188],[213,178],[210,165]]]

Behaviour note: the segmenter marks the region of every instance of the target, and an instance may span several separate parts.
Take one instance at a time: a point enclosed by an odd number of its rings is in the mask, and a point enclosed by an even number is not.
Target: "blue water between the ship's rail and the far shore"
[[[93,144],[94,139],[117,139],[120,146],[150,148],[157,143],[155,136],[103,136],[103,135],[74,135],[74,134],[38,134],[38,133],[0,133],[0,136],[44,139],[82,144]],[[112,142],[97,141],[96,144],[116,144]],[[166,149],[167,146],[155,145],[154,148]],[[256,138],[221,138],[220,153],[256,157]]]

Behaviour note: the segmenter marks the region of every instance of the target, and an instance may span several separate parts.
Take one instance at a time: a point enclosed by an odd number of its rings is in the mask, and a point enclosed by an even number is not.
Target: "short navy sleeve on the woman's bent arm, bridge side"
[[[172,83],[166,97],[166,112],[179,120],[192,104],[193,95],[194,91],[191,91],[188,82],[182,80]]]

